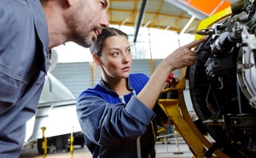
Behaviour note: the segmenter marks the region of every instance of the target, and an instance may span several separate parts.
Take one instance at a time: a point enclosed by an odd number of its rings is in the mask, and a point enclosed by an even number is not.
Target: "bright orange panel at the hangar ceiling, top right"
[[[201,10],[205,14],[211,14],[212,10],[218,6],[222,0],[191,0],[189,5],[193,8]]]

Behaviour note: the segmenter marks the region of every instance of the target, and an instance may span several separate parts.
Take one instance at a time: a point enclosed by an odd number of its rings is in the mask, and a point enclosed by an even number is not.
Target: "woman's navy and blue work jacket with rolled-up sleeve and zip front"
[[[154,111],[135,97],[148,82],[148,76],[131,74],[127,81],[133,93],[124,99],[108,89],[102,80],[79,96],[79,122],[94,158],[155,157]]]

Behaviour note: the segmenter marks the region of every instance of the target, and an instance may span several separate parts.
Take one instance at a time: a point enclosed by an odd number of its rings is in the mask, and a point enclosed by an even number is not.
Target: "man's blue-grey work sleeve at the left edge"
[[[0,2],[0,102],[16,103],[31,81],[35,31],[26,3]]]

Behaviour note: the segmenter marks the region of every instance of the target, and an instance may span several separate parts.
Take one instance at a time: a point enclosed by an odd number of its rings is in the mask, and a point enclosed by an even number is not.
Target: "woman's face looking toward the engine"
[[[131,71],[131,47],[124,36],[108,37],[103,42],[100,57],[103,75],[127,78]]]

